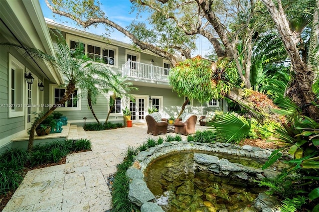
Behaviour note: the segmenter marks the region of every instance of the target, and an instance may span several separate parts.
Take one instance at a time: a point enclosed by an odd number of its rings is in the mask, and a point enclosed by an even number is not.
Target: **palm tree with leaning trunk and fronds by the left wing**
[[[83,54],[76,54],[80,51],[80,46],[75,50],[70,50],[66,40],[63,35],[58,30],[49,30],[52,36],[55,38],[54,45],[54,55],[48,55],[36,48],[22,47],[20,45],[12,43],[1,43],[1,45],[13,46],[17,49],[24,49],[26,53],[24,56],[31,56],[36,60],[44,61],[49,64],[52,68],[56,69],[61,73],[65,80],[65,93],[63,98],[56,102],[47,112],[42,116],[37,118],[31,126],[29,141],[28,141],[28,151],[31,151],[33,148],[34,132],[35,128],[47,117],[49,116],[58,106],[64,105],[74,94],[75,88],[78,85],[85,84],[91,86],[92,88],[98,84],[99,77],[101,76],[113,78],[111,71],[107,69],[99,68],[97,69],[90,58]],[[88,76],[94,76],[88,78]],[[95,80],[93,80],[95,79]],[[114,81],[110,81],[113,83]]]

